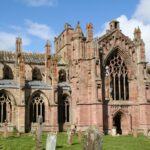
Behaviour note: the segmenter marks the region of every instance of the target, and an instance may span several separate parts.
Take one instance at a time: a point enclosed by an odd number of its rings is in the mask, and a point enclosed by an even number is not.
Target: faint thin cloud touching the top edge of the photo
[[[56,0],[20,0],[29,6],[40,7],[40,6],[53,6]]]

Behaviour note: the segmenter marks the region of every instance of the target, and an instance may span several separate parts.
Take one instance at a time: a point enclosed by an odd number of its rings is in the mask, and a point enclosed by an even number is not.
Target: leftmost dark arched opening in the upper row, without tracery
[[[14,78],[12,69],[8,65],[4,65],[3,79],[12,80]]]

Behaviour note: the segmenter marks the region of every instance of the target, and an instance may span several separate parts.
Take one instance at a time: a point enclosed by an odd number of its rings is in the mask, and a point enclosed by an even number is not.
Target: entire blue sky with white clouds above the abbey
[[[101,35],[107,23],[120,21],[124,34],[133,38],[140,27],[150,62],[150,0],[1,0],[0,50],[14,50],[16,37],[22,37],[24,51],[43,52],[47,40],[80,21],[83,31],[92,22],[94,35]],[[54,51],[54,46],[53,46]]]

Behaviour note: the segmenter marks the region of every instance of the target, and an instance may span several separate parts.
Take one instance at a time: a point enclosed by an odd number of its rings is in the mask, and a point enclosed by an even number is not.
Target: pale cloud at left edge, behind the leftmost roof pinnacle
[[[0,31],[0,49],[14,50],[17,36],[17,34]],[[22,37],[22,41],[23,46],[30,44],[30,39],[25,36]]]

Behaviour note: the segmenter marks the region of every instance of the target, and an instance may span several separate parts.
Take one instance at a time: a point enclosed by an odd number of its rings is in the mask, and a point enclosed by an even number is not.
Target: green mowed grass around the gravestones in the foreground
[[[42,136],[43,150],[46,145],[47,134]],[[67,134],[59,133],[57,135],[58,150],[82,150],[83,142],[79,143],[77,135],[73,137],[73,144],[67,144]],[[9,136],[0,137],[0,150],[35,150],[35,140],[30,134],[23,134],[20,137]],[[104,136],[103,150],[150,150],[150,139],[140,135],[137,138],[129,136]]]

